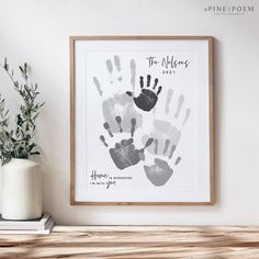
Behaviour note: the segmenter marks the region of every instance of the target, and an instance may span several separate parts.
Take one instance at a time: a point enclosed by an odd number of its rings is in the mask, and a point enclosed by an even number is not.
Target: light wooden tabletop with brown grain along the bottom
[[[0,258],[259,258],[259,227],[55,226],[1,235]]]

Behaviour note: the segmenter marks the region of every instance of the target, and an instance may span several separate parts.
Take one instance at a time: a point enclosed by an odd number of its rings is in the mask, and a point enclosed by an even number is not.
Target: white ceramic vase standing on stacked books
[[[41,216],[40,166],[29,159],[12,159],[2,167],[2,217],[22,221]]]

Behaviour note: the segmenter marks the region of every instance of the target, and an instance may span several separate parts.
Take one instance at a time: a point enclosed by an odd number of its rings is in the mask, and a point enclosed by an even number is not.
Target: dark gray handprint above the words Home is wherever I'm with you
[[[122,127],[122,119],[120,116],[115,117],[115,121],[117,123],[117,127],[119,127],[119,133],[117,134],[122,134],[123,133],[123,127]],[[109,149],[109,153],[111,155],[111,158],[113,160],[113,162],[115,164],[115,166],[123,170],[127,167],[132,167],[137,165],[140,160],[145,159],[145,148],[150,146],[153,143],[153,138],[148,138],[145,146],[140,149],[137,149],[134,145],[134,133],[136,130],[136,119],[132,119],[131,120],[131,124],[132,124],[132,128],[131,128],[131,137],[126,138],[126,139],[121,139],[120,142],[115,143],[113,148]],[[111,138],[114,137],[110,124],[109,123],[104,123],[103,127],[106,130],[109,136]],[[104,144],[105,147],[109,147],[105,137],[103,135],[100,136],[101,142]]]

